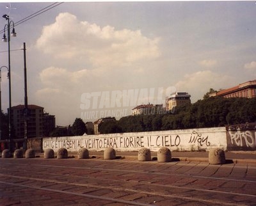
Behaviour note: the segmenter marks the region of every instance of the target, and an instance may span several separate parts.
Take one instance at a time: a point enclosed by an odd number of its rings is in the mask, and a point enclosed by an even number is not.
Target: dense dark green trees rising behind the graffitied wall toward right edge
[[[100,134],[223,127],[256,122],[256,98],[207,97],[175,108],[163,115],[124,116],[116,122],[102,122]]]

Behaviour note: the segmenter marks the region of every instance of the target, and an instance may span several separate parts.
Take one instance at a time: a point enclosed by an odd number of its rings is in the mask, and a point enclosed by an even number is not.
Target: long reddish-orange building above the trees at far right
[[[246,83],[239,84],[227,90],[220,90],[216,93],[212,93],[210,97],[256,97],[256,79],[253,81],[247,81]]]

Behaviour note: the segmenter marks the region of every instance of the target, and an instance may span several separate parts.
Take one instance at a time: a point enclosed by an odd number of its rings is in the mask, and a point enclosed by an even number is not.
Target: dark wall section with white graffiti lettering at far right
[[[256,123],[228,125],[228,150],[256,150]]]

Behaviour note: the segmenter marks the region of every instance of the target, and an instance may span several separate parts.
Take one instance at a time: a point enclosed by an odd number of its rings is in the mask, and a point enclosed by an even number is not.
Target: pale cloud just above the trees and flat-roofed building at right
[[[175,87],[177,91],[188,92],[191,95],[191,101],[196,102],[196,100],[202,99],[210,88],[219,90],[221,88],[227,88],[227,86],[232,86],[232,80],[232,77],[228,75],[204,70],[193,74],[186,74],[183,80],[175,84]]]

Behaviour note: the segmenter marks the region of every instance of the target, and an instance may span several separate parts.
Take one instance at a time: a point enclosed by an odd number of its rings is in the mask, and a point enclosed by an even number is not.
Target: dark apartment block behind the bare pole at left
[[[43,136],[43,115],[44,107],[36,105],[28,105],[28,121],[27,121],[27,135],[25,134],[25,106],[18,105],[12,107],[12,123],[15,130],[15,137],[22,139],[27,138],[39,138]]]

